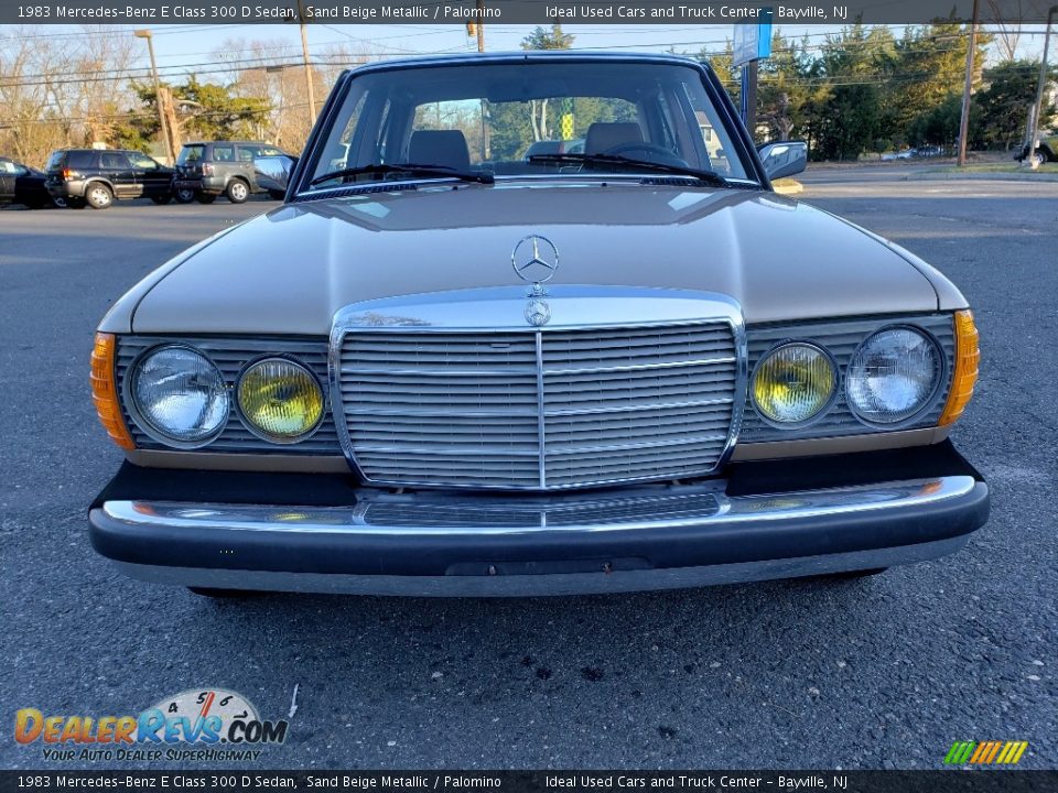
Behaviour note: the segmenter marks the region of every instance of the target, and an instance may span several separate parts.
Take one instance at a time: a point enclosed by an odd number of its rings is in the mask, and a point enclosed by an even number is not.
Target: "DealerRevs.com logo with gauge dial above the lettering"
[[[45,715],[22,708],[14,739],[42,745],[45,760],[256,760],[287,739],[288,723],[262,719],[249,699],[223,688],[166,697],[138,716]]]

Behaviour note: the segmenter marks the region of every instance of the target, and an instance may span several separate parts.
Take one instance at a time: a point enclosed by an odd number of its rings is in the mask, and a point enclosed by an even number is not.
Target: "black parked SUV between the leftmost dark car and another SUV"
[[[44,166],[47,192],[79,209],[106,209],[116,198],[150,198],[169,204],[173,169],[143,152],[123,149],[60,149]]]

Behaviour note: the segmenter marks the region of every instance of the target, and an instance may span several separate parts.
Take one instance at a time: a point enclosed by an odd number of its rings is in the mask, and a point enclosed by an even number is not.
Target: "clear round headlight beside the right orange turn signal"
[[[942,359],[936,343],[911,328],[887,328],[864,341],[852,356],[845,397],[865,422],[895,424],[932,398]]]

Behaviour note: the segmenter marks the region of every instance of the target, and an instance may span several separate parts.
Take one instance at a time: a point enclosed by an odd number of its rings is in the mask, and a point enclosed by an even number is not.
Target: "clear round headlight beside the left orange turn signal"
[[[161,347],[139,360],[130,383],[144,430],[175,445],[208,443],[228,420],[228,391],[220,372],[190,347]]]

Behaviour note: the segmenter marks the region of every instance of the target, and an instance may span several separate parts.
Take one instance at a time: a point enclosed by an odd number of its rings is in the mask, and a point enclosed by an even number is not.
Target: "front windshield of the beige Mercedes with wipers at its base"
[[[679,64],[563,61],[368,73],[354,77],[322,145],[309,178],[316,188],[411,177],[373,165],[496,177],[641,177],[680,167],[747,177],[700,73]]]

